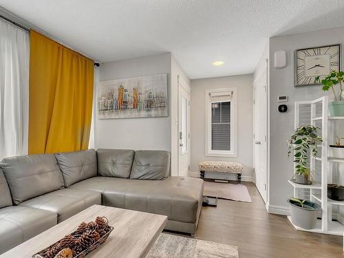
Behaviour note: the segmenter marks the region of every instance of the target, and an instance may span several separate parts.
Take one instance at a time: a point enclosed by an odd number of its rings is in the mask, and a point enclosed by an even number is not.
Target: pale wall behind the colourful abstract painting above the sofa
[[[171,96],[171,54],[144,56],[100,64],[99,80],[114,80],[168,74],[168,94]],[[171,103],[171,97],[169,103]],[[95,148],[159,149],[171,151],[171,107],[169,116],[162,118],[96,119]]]

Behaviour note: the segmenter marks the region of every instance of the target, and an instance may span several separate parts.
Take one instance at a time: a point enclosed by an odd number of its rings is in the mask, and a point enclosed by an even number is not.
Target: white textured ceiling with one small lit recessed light
[[[270,36],[344,26],[343,0],[0,0],[96,61],[171,52],[189,78],[250,74]],[[225,61],[214,67],[213,61]]]

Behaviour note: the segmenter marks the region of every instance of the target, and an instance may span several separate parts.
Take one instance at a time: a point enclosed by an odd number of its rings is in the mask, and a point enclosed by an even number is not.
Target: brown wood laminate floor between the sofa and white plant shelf
[[[252,203],[220,199],[216,208],[202,207],[195,238],[238,246],[240,258],[344,257],[343,237],[295,230],[286,216],[266,212],[255,184],[244,184]]]

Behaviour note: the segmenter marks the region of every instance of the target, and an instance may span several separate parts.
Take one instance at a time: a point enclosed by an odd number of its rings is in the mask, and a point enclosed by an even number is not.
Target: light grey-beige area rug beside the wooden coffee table
[[[146,258],[239,258],[237,246],[161,233]]]

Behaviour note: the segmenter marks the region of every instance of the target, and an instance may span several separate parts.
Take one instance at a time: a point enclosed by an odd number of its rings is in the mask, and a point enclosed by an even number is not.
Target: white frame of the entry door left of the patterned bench
[[[182,90],[184,90],[187,94],[189,94],[189,105],[187,105],[188,107],[188,111],[187,111],[187,116],[186,116],[186,130],[189,131],[188,133],[188,137],[187,137],[187,146],[188,148],[188,155],[189,155],[189,165],[188,165],[188,173],[187,175],[190,176],[190,170],[191,170],[191,87],[184,82],[184,80],[182,80],[182,78],[178,75],[178,175],[180,175],[180,154],[181,154],[181,149],[180,148],[180,101],[181,101],[181,96],[182,96]]]

